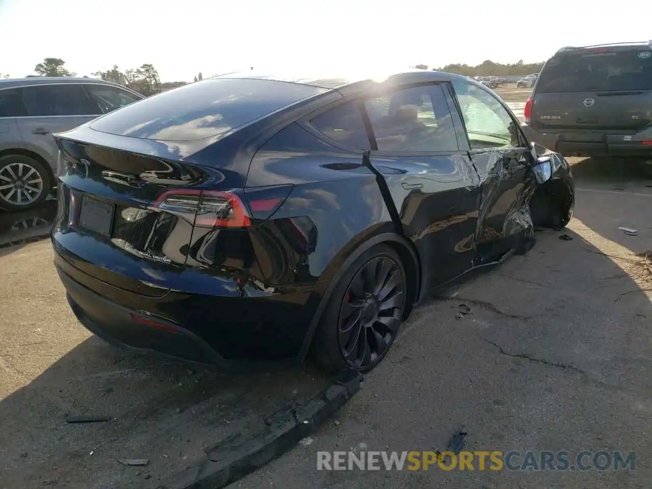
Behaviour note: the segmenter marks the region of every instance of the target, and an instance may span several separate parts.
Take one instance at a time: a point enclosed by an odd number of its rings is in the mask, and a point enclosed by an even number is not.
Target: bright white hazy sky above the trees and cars
[[[652,39],[649,3],[580,0],[0,0],[0,73],[57,57],[78,76],[155,66],[164,82],[256,70],[545,61]]]

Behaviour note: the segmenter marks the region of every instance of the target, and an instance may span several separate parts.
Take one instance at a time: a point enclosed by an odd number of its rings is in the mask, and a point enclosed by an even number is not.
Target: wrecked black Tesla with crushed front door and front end
[[[90,331],[220,368],[368,370],[413,305],[565,226],[567,162],[481,84],[218,76],[56,136],[55,264]]]

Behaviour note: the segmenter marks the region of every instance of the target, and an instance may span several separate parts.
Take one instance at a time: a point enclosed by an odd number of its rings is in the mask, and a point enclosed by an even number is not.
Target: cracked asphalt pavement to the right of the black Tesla
[[[652,284],[630,260],[652,248],[652,188],[627,162],[572,163],[567,230],[419,308],[336,420],[231,487],[649,487]],[[636,468],[317,470],[318,451],[441,452],[460,426],[467,451],[635,451]]]

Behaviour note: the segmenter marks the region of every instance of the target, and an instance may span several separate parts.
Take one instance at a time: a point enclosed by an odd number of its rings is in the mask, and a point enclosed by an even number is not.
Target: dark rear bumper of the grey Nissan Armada
[[[623,136],[606,134],[604,141],[566,141],[561,132],[539,132],[523,125],[529,140],[552,149],[563,156],[632,156],[652,159],[652,146],[640,141],[623,142]]]

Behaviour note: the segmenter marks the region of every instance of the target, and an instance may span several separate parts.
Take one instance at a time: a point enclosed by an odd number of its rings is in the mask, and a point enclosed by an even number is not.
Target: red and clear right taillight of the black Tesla
[[[251,218],[243,201],[232,192],[167,190],[154,203],[162,211],[180,216],[196,226],[248,228]]]

